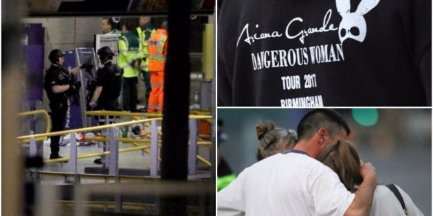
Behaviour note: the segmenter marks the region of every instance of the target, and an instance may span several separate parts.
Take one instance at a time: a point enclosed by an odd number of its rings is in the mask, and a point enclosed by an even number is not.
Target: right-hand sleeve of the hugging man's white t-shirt
[[[355,194],[347,191],[331,169],[316,178],[311,187],[311,195],[315,215],[342,216],[355,199]]]

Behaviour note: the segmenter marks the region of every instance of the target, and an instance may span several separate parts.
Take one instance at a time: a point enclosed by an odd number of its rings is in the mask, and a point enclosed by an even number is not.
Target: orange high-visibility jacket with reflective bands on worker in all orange
[[[167,55],[166,29],[157,29],[147,41],[149,71],[164,71]]]

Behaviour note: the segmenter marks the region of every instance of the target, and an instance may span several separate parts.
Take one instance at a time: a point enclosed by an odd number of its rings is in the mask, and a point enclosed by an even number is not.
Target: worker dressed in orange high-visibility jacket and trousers
[[[151,72],[152,92],[147,112],[162,112],[164,101],[164,67],[167,55],[167,21],[151,35],[148,46],[148,69]]]

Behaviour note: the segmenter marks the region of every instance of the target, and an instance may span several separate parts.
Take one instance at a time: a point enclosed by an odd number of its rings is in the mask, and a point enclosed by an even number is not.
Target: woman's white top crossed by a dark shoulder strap
[[[404,192],[400,187],[395,185],[401,197],[403,197],[406,210],[410,216],[424,216],[421,211],[415,206],[409,195]],[[406,216],[403,211],[403,207],[397,197],[386,187],[385,185],[377,185],[375,194],[373,196],[373,205],[371,206],[370,216]]]

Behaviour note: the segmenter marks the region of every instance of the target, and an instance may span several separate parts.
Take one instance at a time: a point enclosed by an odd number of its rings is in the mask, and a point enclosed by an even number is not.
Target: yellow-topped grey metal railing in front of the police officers
[[[31,111],[34,112],[34,111]],[[27,113],[25,113],[27,114]],[[65,135],[70,134],[70,147],[71,147],[71,153],[69,158],[58,158],[54,160],[45,160],[45,163],[59,163],[59,162],[66,162],[68,160],[71,160],[69,163],[70,171],[72,173],[77,173],[77,160],[81,158],[91,158],[96,156],[103,156],[108,155],[109,160],[107,160],[107,166],[109,167],[109,175],[118,176],[118,153],[122,152],[131,152],[136,150],[142,150],[148,154],[151,154],[151,176],[157,176],[157,162],[160,160],[158,156],[158,147],[160,146],[159,142],[159,136],[160,133],[158,133],[157,130],[157,123],[156,121],[162,120],[162,117],[155,117],[160,115],[155,114],[147,114],[147,113],[131,113],[131,112],[118,112],[118,111],[92,111],[89,113],[89,115],[115,115],[115,116],[153,116],[152,119],[140,119],[135,121],[127,121],[122,123],[113,123],[113,124],[107,124],[107,125],[99,125],[89,128],[78,128],[74,130],[64,130],[59,132],[48,132],[43,134],[30,134],[26,136],[18,136],[17,139],[19,139],[22,143],[25,143],[26,141],[30,141],[30,154],[32,152],[36,152],[36,140],[37,139],[45,139],[47,136],[59,136],[59,135]],[[21,114],[24,115],[24,114]],[[191,115],[190,116],[190,147],[188,149],[188,170],[190,174],[195,174],[197,171],[197,161],[200,160],[204,164],[211,166],[212,163],[210,163],[205,158],[197,155],[197,145],[200,145],[200,142],[197,141],[197,119],[210,119],[210,116],[198,116],[198,115]],[[140,124],[140,123],[149,123],[151,122],[151,141],[148,140],[141,140],[141,139],[129,139],[129,138],[120,138],[118,136],[118,129],[116,127],[122,127],[126,125],[134,125],[134,124]],[[95,141],[106,141],[109,143],[108,145],[108,151],[98,153],[98,154],[86,154],[86,155],[77,155],[77,144],[76,144],[76,132],[89,132],[94,130],[108,130],[108,137],[107,138],[92,138],[87,140],[95,140]],[[119,141],[132,143],[135,145],[135,147],[130,147],[126,149],[119,149],[118,143]],[[140,145],[137,143],[149,143],[151,145]],[[210,142],[201,142],[201,145],[209,145]],[[34,149],[34,150],[32,150]],[[148,149],[151,149],[149,152]],[[34,153],[33,153],[34,154]]]

